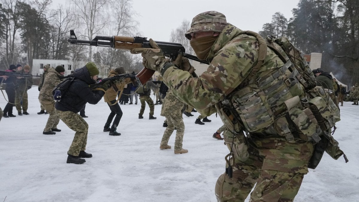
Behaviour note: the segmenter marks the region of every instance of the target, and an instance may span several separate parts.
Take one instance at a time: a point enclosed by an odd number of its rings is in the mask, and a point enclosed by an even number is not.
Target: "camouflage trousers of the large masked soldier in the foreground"
[[[232,178],[226,173],[219,176],[215,185],[218,201],[244,201],[253,187],[250,201],[293,201],[304,175],[308,173],[307,164],[313,145],[308,142],[289,143],[283,138],[251,142],[247,160],[242,161],[236,155],[230,159]]]

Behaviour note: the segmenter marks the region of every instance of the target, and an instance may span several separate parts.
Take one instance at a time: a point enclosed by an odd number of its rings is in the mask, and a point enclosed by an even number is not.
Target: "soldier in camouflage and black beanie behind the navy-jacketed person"
[[[53,67],[50,68],[39,93],[40,104],[45,108],[48,114],[50,114],[42,132],[44,135],[54,135],[56,132],[61,131],[57,129],[60,118],[55,111],[55,101],[53,100],[52,90],[61,82],[59,77],[64,75],[64,73],[65,68],[63,66],[56,66],[56,69]]]

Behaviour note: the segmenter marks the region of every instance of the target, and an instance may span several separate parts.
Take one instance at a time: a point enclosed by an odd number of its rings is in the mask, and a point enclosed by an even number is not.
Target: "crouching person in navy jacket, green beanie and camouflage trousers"
[[[98,68],[93,62],[76,69],[73,74],[75,80],[61,96],[61,101],[56,102],[55,105],[60,119],[75,131],[74,139],[67,151],[66,163],[68,164],[83,164],[86,161],[80,158],[92,157],[92,154],[85,152],[89,125],[78,113],[87,102],[92,105],[97,104],[107,90],[106,85],[94,90],[89,88],[90,84],[96,83],[98,73]]]

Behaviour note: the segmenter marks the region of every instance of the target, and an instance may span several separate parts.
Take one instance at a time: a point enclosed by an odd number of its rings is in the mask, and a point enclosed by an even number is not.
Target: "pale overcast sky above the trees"
[[[53,0],[53,7],[64,0]],[[216,10],[227,17],[227,22],[242,30],[258,32],[263,24],[272,20],[275,12],[282,13],[288,20],[293,17],[292,9],[299,0],[133,0],[133,9],[138,14],[141,37],[155,41],[169,41],[171,31],[181,26],[184,19],[202,12]]]

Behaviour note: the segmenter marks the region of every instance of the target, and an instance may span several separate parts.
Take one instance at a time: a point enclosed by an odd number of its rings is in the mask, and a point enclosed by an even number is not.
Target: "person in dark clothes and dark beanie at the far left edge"
[[[10,65],[9,69],[6,69],[6,72],[16,72],[16,66],[15,65]],[[8,103],[6,104],[5,108],[4,108],[4,118],[9,118],[9,117],[15,117],[15,115],[13,114],[13,107],[14,107],[14,103],[15,103],[15,88],[17,87],[16,81],[17,81],[17,77],[9,77],[8,79],[6,79],[5,83],[6,83],[6,87],[5,87],[5,92],[8,95]]]

